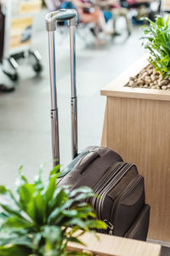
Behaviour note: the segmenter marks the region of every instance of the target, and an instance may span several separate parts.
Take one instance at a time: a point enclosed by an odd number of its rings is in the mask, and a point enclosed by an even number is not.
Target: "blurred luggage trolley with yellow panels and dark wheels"
[[[0,40],[5,42],[1,52],[2,70],[12,81],[19,79],[18,69],[24,63],[35,73],[42,72],[42,57],[37,49],[31,49],[33,18],[41,7],[41,0],[3,1],[3,23],[0,24]]]

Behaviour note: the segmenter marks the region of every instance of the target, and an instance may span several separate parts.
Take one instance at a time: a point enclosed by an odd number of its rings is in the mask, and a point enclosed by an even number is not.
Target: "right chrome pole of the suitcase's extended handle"
[[[71,145],[72,159],[77,156],[77,81],[76,81],[76,26],[70,26],[71,45]]]

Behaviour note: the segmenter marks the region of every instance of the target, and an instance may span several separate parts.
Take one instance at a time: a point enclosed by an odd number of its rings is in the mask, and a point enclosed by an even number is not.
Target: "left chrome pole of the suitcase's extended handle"
[[[54,31],[48,31],[49,73],[51,84],[51,132],[53,165],[59,165],[59,116],[57,107],[57,87],[55,68],[55,36]]]

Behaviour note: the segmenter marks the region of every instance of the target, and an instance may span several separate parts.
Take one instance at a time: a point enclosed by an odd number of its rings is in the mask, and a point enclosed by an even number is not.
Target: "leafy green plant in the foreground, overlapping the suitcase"
[[[106,228],[105,223],[95,219],[92,208],[80,202],[92,196],[93,191],[88,187],[72,191],[57,187],[58,167],[45,183],[41,172],[34,183],[28,183],[21,169],[15,196],[0,186],[0,255],[88,255],[68,253],[66,247],[69,241],[82,243],[79,236],[90,229]]]

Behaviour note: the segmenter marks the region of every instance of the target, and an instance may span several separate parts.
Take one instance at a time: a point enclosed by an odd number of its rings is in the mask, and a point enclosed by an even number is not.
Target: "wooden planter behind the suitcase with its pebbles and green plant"
[[[149,22],[143,44],[150,56],[101,90],[107,96],[101,144],[138,166],[151,210],[149,238],[170,241],[170,20]]]

